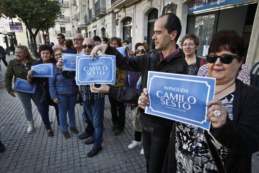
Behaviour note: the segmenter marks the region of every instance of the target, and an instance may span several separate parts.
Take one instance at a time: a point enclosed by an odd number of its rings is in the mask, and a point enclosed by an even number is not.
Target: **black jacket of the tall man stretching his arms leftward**
[[[141,88],[147,87],[148,71],[188,74],[188,64],[183,57],[184,53],[181,49],[179,53],[162,60],[160,63],[158,55],[159,52],[160,50],[152,49],[149,53],[138,57],[124,57],[119,51],[117,51],[117,49],[108,45],[105,54],[116,56],[117,68],[127,71],[141,72]],[[124,87],[110,87],[108,95],[121,102],[138,104],[138,98],[142,92],[143,89],[137,90]],[[145,114],[145,111],[141,108],[139,111],[141,113],[140,122],[149,133],[158,137],[170,136],[172,125],[174,124],[173,120]]]

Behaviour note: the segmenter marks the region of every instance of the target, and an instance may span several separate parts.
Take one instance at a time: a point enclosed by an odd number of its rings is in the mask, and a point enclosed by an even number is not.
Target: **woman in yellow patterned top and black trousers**
[[[109,41],[108,44],[112,47],[118,48],[122,47],[121,41],[118,37],[112,37]],[[125,70],[120,70],[119,68],[116,67],[116,79],[115,79],[115,84],[111,85],[112,87],[122,87],[123,82],[125,78]],[[111,114],[112,114],[112,127],[111,130],[114,131],[114,135],[119,135],[125,127],[125,107],[124,103],[117,101],[116,99],[109,97],[109,101],[111,104]],[[118,107],[118,108],[117,108]],[[119,114],[117,113],[119,112]]]

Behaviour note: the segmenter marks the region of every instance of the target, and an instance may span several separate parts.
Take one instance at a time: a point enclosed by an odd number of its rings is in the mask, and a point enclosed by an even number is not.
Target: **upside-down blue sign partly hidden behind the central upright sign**
[[[63,70],[76,71],[76,57],[77,56],[82,56],[82,55],[62,53]]]

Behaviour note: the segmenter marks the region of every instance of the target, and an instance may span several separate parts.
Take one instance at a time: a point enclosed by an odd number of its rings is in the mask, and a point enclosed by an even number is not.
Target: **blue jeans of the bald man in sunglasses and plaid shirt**
[[[94,147],[102,146],[103,142],[103,118],[104,118],[104,98],[94,100],[91,104],[83,101],[90,121],[93,123],[93,136],[95,137]]]

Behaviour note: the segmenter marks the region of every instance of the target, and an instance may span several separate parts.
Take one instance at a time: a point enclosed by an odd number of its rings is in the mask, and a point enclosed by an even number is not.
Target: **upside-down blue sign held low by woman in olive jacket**
[[[17,78],[13,90],[26,93],[34,93],[36,84],[31,85],[27,80]]]

